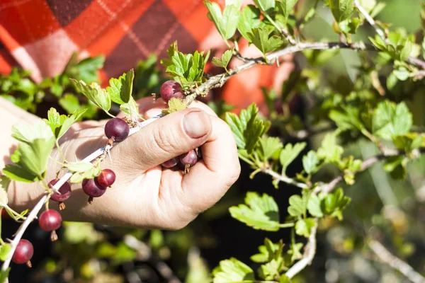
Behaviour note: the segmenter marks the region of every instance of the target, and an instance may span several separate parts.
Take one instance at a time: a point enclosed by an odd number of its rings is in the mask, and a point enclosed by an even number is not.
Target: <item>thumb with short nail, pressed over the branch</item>
[[[199,108],[173,112],[123,141],[120,154],[147,170],[201,146],[212,131],[210,116]],[[120,144],[120,145],[121,145]]]

